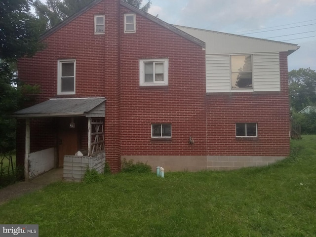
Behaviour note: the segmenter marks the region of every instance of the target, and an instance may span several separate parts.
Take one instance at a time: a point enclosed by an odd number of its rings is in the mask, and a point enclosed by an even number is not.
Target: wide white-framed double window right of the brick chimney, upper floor
[[[141,59],[139,77],[141,86],[168,85],[168,59]]]

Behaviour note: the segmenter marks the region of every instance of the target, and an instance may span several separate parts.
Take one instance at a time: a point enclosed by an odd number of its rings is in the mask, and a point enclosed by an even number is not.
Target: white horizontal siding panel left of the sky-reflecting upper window
[[[206,92],[230,92],[230,56],[206,56]]]

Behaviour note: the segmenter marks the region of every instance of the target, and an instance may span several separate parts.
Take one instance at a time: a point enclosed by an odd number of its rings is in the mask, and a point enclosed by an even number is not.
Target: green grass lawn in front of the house
[[[40,237],[315,237],[316,135],[261,168],[58,182],[0,206]]]

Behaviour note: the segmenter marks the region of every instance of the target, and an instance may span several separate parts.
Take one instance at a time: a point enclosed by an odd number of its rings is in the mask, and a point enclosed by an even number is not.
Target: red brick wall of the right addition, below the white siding
[[[287,53],[280,53],[280,92],[207,96],[207,155],[287,156],[289,100]],[[237,140],[237,122],[258,123],[257,140]]]

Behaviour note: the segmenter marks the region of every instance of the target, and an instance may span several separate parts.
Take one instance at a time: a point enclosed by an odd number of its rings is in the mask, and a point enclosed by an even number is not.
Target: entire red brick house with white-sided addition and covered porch
[[[105,159],[113,172],[123,158],[201,170],[289,154],[296,44],[173,26],[120,0],[93,1],[41,40],[18,62],[41,88],[14,114],[27,179],[63,166],[75,180]]]

